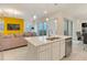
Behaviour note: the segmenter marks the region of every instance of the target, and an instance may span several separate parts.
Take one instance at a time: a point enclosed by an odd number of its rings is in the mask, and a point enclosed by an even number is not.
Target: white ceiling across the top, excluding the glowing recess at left
[[[44,17],[44,11],[48,13],[58,13],[69,15],[76,19],[87,19],[87,4],[85,3],[0,3],[0,8],[17,9],[23,14],[20,17],[30,19],[34,14],[39,18]]]

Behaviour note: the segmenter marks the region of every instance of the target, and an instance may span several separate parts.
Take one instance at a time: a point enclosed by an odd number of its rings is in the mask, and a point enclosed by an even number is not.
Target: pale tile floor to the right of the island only
[[[87,61],[87,48],[84,46],[83,42],[79,41],[73,44],[73,52],[70,56],[63,58],[63,61]],[[84,50],[85,47],[85,50]]]

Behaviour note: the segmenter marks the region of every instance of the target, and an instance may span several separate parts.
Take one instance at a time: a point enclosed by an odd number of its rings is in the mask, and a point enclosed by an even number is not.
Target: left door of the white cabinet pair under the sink
[[[52,56],[54,61],[59,59],[59,42],[54,42],[52,44]]]

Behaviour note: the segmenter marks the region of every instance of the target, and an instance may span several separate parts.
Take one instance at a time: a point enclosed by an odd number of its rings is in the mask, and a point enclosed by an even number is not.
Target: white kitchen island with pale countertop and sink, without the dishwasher
[[[65,40],[70,39],[70,36],[55,35],[24,39],[29,42],[28,58],[30,61],[59,61],[66,56],[67,43],[65,43]]]

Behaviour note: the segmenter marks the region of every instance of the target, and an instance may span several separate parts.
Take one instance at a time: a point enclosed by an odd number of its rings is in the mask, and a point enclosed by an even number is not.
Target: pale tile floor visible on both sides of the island
[[[20,47],[10,51],[0,52],[1,61],[28,61],[29,47]],[[87,61],[87,51],[84,51],[83,42],[73,43],[73,52],[70,56],[64,57],[62,61]]]

